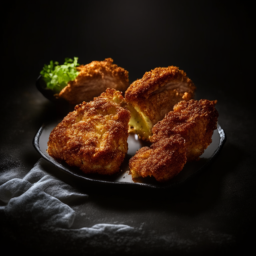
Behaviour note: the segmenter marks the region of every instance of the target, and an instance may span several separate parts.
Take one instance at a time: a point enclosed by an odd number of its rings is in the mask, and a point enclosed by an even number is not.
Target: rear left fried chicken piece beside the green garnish
[[[69,81],[58,95],[70,104],[89,102],[107,88],[124,92],[129,86],[128,71],[113,64],[111,58],[104,61],[92,61],[87,65],[77,67],[77,70],[79,74],[76,79]]]

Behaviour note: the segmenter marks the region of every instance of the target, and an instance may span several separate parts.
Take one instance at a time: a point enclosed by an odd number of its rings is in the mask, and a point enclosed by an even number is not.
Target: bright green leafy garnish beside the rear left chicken
[[[40,72],[47,88],[53,90],[55,93],[59,93],[69,81],[74,80],[79,72],[76,66],[78,58],[74,57],[74,61],[70,58],[65,58],[63,65],[59,65],[57,61],[50,61],[49,65],[44,65],[43,70]]]

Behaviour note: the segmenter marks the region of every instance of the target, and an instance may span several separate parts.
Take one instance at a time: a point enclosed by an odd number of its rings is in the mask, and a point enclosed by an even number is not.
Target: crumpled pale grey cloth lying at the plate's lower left
[[[43,161],[40,159],[23,179],[13,178],[3,183],[12,176],[1,176],[0,182],[3,184],[0,186],[0,200],[6,205],[0,206],[0,212],[16,221],[22,220],[41,227],[69,229],[73,224],[75,211],[66,203],[86,199],[88,195],[79,193],[49,174],[43,168]],[[13,176],[17,174],[13,172]],[[127,225],[97,224],[80,231],[84,235],[95,235],[128,229],[133,228]]]

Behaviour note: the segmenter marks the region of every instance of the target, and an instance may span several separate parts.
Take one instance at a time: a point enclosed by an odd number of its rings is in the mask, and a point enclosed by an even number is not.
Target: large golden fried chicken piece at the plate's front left
[[[75,107],[51,132],[47,152],[84,173],[114,174],[128,150],[130,112],[121,92],[107,89]]]

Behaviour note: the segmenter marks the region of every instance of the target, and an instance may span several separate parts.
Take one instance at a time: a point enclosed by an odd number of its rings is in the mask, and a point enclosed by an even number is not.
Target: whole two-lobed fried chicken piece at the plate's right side
[[[129,161],[134,181],[153,176],[168,181],[177,175],[186,161],[198,160],[212,142],[217,129],[217,101],[180,101],[173,111],[154,125],[150,148],[139,149]]]

